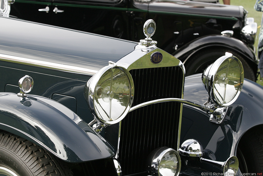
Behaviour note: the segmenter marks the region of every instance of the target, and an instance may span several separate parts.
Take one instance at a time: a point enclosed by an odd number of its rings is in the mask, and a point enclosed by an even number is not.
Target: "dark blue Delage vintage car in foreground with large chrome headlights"
[[[1,1],[7,3],[7,0]],[[0,17],[0,174],[240,175],[262,171],[261,85],[221,56],[185,78],[156,47]]]

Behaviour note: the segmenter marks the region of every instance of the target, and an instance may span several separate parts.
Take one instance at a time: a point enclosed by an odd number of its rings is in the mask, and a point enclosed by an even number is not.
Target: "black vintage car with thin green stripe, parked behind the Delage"
[[[16,0],[18,18],[139,42],[148,19],[158,47],[180,59],[186,75],[202,73],[225,52],[241,60],[255,81],[257,24],[242,6],[182,0]]]

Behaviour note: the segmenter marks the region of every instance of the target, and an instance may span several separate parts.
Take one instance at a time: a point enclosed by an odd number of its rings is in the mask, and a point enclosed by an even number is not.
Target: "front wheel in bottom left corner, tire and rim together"
[[[0,175],[73,176],[66,164],[22,137],[0,132]]]

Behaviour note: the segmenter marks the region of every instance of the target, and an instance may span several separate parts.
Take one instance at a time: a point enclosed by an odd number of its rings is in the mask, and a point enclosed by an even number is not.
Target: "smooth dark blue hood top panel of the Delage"
[[[22,20],[10,20],[8,18],[1,18],[0,20],[1,23],[8,21],[8,25],[4,25],[0,29],[1,34],[3,31],[8,31],[8,34],[0,36],[2,53],[54,64],[83,67],[93,70],[93,72],[108,65],[109,60],[117,62],[123,55],[133,51],[136,45],[135,42],[112,40],[110,37],[98,37],[95,34],[87,35],[85,32],[60,30],[60,28],[47,25],[25,23]],[[39,35],[39,32],[42,35]],[[20,35],[20,33],[24,35]],[[74,39],[77,39],[76,42],[68,46],[68,41]],[[102,47],[103,45],[107,47]],[[119,50],[114,49],[113,46],[118,46]],[[53,59],[54,54],[57,55],[56,60]]]

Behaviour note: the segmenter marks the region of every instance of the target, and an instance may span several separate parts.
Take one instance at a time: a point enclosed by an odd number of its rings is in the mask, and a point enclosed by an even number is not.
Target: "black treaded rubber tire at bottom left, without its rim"
[[[68,163],[22,137],[0,131],[0,146],[21,158],[34,176],[73,176]]]

